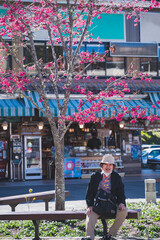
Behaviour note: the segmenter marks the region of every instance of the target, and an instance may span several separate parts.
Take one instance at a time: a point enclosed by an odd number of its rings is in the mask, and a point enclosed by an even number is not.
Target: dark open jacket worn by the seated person
[[[93,173],[88,185],[87,194],[86,194],[86,202],[87,206],[93,206],[94,198],[96,196],[98,186],[100,181],[102,180],[103,175],[100,172]],[[120,175],[116,172],[111,173],[111,193],[117,197],[117,204],[125,202],[125,193],[124,193],[124,185]]]

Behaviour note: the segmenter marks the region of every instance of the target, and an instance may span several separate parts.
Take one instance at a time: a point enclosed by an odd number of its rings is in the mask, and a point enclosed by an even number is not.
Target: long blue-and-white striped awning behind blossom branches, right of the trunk
[[[31,92],[29,96],[32,98],[32,100],[38,105],[40,109],[45,111],[44,109],[44,104],[43,101],[41,101],[40,96],[37,92]],[[25,100],[25,105],[28,106],[29,108],[35,107],[27,98],[24,98]],[[48,99],[49,101],[49,107],[51,109],[51,113],[54,117],[58,117],[59,115],[59,110],[58,110],[58,105],[56,99]],[[145,111],[144,117],[145,116],[150,116],[150,115],[158,115],[160,116],[160,109],[159,108],[152,108],[151,102],[147,102],[144,99],[140,100],[104,100],[104,110],[101,110],[99,112],[95,112],[97,117],[105,117],[105,118],[111,118],[111,117],[116,117],[119,113],[122,113],[122,107],[126,106],[129,111],[137,108],[139,106],[139,110],[137,110],[137,113],[140,113],[142,110]],[[74,113],[78,112],[79,108],[79,99],[70,99],[69,104],[68,104],[68,109],[67,109],[67,116],[72,116]],[[60,100],[60,104],[62,106],[63,104],[63,99]],[[82,106],[82,110],[87,110],[91,107],[91,103],[86,102]],[[43,117],[45,116],[41,111],[39,111],[39,116]],[[131,117],[131,114],[125,115],[126,117]],[[143,117],[143,116],[142,116]]]

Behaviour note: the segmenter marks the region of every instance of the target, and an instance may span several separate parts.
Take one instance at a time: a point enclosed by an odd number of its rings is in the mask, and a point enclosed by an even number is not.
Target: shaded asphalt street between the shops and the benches
[[[160,179],[160,170],[155,172],[150,169],[143,169],[142,174],[135,176],[125,176],[123,183],[125,186],[126,198],[145,198],[144,179]],[[70,191],[70,196],[66,201],[84,200],[89,179],[66,179],[65,188]],[[54,180],[32,180],[9,182],[0,180],[0,197],[26,194],[32,188],[33,192],[49,191],[55,189]],[[156,183],[157,197],[160,197],[160,182]]]

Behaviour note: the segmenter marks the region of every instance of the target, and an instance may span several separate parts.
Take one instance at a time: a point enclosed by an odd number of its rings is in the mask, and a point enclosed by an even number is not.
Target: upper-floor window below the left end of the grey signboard
[[[123,57],[106,58],[106,75],[123,76],[125,74],[125,64]]]

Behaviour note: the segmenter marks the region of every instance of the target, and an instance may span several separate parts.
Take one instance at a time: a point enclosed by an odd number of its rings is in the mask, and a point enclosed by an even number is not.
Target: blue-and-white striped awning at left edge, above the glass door
[[[34,116],[34,109],[26,109],[22,99],[0,99],[1,117]]]

